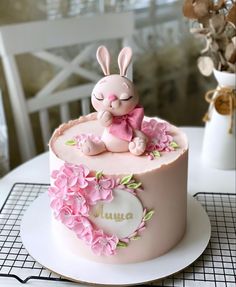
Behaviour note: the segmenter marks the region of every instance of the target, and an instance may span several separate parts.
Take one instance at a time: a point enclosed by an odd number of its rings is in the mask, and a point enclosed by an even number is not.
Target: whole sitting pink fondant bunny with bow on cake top
[[[141,132],[143,108],[138,106],[138,95],[133,83],[125,77],[132,50],[125,47],[118,56],[120,75],[110,75],[110,54],[106,47],[97,50],[97,60],[105,75],[92,91],[92,105],[97,119],[104,127],[101,141],[87,138],[81,143],[86,155],[96,155],[105,150],[130,151],[141,155],[146,149],[146,137]]]

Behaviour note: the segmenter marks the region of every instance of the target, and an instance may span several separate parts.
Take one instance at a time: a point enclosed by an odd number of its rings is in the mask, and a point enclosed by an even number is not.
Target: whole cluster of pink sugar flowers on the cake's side
[[[113,255],[119,239],[98,229],[88,219],[90,207],[98,201],[110,202],[116,181],[90,175],[83,165],[64,164],[52,172],[54,186],[49,188],[54,216],[98,255]]]

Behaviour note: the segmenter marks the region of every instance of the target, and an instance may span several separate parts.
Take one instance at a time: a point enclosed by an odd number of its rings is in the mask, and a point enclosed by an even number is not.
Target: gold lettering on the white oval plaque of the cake
[[[115,222],[121,222],[124,220],[130,220],[133,219],[133,213],[127,212],[127,213],[119,213],[119,212],[104,212],[103,210],[103,204],[100,204],[93,213],[94,217],[100,217],[102,219],[107,220],[114,220]]]

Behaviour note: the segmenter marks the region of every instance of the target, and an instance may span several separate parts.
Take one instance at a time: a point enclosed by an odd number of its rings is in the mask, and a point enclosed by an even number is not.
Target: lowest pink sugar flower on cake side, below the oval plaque
[[[96,230],[93,235],[92,251],[97,255],[114,255],[119,239],[115,235],[104,234],[102,230]]]

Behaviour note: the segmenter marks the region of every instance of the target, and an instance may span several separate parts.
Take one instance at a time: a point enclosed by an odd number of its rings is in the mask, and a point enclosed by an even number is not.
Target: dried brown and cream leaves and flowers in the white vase
[[[205,40],[198,68],[205,75],[213,69],[236,72],[236,1],[185,0],[183,14],[198,22],[190,31]]]

